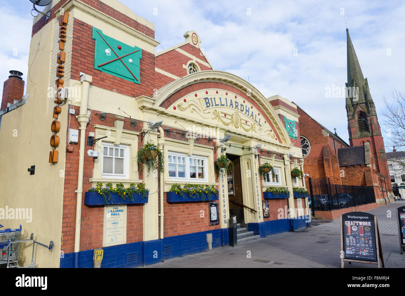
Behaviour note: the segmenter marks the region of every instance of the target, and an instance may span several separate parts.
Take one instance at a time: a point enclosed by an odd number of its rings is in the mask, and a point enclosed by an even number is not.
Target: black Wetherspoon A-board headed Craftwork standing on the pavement
[[[380,267],[380,259],[384,267],[377,217],[364,212],[341,215],[341,249],[342,268],[345,261],[372,263]]]

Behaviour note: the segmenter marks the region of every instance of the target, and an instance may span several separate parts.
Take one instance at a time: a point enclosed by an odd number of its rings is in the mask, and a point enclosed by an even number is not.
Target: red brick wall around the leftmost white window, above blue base
[[[74,107],[76,114],[79,114],[79,108]],[[104,125],[114,127],[114,121],[124,121],[125,130],[140,132],[143,126],[141,121],[136,121],[135,126],[130,126],[129,118],[116,118],[113,114],[106,114],[107,118],[104,121],[100,120],[100,111],[92,110],[91,122],[92,124]],[[80,127],[76,116],[70,116],[70,128],[78,129]],[[94,126],[88,124],[86,129],[85,150],[90,149],[87,146],[87,135],[90,131],[95,131]],[[68,134],[68,129],[66,130]],[[139,137],[138,146],[142,146]],[[68,141],[68,139],[67,139]],[[75,244],[75,222],[76,222],[76,201],[77,194],[77,172],[79,169],[79,147],[80,147],[80,133],[79,143],[70,144],[74,148],[73,152],[66,153],[66,169],[65,169],[65,185],[63,197],[63,216],[62,216],[62,246],[61,249],[65,253],[74,252]],[[68,142],[66,142],[68,146]],[[82,215],[81,215],[81,235],[80,235],[80,250],[94,249],[102,247],[102,230],[103,230],[103,206],[87,206],[84,205],[84,195],[88,189],[92,187],[89,178],[93,176],[94,159],[84,156],[84,173],[83,173],[83,199],[82,199]],[[142,180],[143,176],[140,174],[139,179]],[[105,186],[105,184],[104,184]],[[127,206],[127,243],[142,241],[143,238],[143,205],[128,205]]]

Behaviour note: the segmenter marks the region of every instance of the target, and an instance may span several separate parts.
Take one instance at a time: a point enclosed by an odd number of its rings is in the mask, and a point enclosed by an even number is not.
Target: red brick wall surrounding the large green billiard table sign
[[[92,39],[92,30],[91,25],[74,19],[70,78],[80,80],[80,72],[85,72],[93,76],[93,82],[90,85],[131,97],[152,95],[153,89],[156,89],[154,55],[145,50],[142,51],[140,85],[96,70],[94,69],[95,41]]]

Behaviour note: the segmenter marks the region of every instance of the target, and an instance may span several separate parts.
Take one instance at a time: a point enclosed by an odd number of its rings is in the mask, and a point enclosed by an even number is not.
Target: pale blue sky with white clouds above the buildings
[[[26,80],[32,5],[28,0],[2,2],[0,81],[12,69]],[[155,24],[156,52],[183,42],[183,34],[194,30],[215,70],[248,80],[265,97],[294,101],[331,131],[336,128],[346,142],[345,99],[325,95],[326,88],[347,82],[345,22],[380,124],[382,97],[392,100],[394,88],[405,92],[403,1],[121,2]]]

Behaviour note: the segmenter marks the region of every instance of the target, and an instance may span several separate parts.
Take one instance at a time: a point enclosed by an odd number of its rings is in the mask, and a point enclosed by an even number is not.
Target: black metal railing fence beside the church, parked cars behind
[[[375,203],[372,186],[330,184],[329,178],[308,178],[312,211],[330,211]]]

